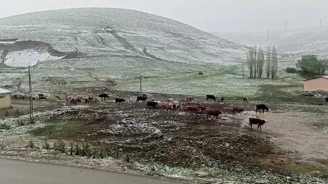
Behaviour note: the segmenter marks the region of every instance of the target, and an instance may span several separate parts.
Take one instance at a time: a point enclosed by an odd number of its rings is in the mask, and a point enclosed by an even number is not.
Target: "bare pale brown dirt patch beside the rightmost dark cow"
[[[255,117],[255,112],[249,111],[245,115],[242,125],[245,129],[250,128],[249,117]],[[269,123],[262,126],[260,134],[271,137],[272,141],[295,157],[326,162],[328,161],[328,134],[325,133],[328,127],[328,122],[325,122],[327,118],[328,115],[323,113],[266,113],[261,115],[260,119],[266,119]]]

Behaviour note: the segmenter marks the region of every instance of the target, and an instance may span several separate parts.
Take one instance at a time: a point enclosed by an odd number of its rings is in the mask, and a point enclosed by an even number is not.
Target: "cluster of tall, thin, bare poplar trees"
[[[247,54],[247,67],[249,70],[250,78],[262,78],[265,71],[266,78],[274,79],[278,71],[277,50],[275,47],[267,47],[266,52],[262,47],[257,49],[256,46],[251,47]],[[263,70],[263,68],[265,70]],[[244,70],[243,76],[244,76]]]

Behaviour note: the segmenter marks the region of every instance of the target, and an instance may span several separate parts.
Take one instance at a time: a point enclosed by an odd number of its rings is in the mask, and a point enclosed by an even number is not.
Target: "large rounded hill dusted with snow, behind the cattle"
[[[26,46],[25,42],[30,41],[35,42]],[[62,9],[2,18],[1,44],[5,64],[22,67],[34,65],[37,59],[60,59],[66,55],[199,63],[236,61],[247,52],[245,45],[181,22],[117,8]]]

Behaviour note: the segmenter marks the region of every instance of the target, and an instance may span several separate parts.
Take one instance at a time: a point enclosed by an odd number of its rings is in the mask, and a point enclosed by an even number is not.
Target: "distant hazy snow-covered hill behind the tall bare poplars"
[[[270,31],[259,33],[218,33],[217,36],[246,45],[276,46],[283,58],[299,58],[304,54],[328,57],[328,27],[313,27],[296,30]]]

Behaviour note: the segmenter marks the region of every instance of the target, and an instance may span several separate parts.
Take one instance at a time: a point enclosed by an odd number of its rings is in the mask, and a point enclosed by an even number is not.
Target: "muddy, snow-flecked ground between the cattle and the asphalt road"
[[[107,101],[38,112],[33,125],[17,124],[28,116],[7,118],[2,122],[10,129],[0,133],[5,142],[0,154],[115,170],[108,165],[112,158],[120,171],[194,183],[328,181],[326,107],[268,104],[269,112],[259,117],[269,123],[257,131],[248,126],[257,102],[196,100],[223,114],[211,120],[205,114]],[[232,115],[234,105],[244,107],[244,114]]]

